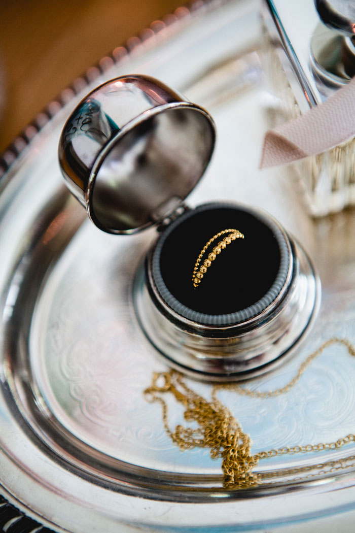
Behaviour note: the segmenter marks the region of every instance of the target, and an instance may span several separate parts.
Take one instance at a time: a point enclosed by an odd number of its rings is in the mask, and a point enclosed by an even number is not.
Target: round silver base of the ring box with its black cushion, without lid
[[[218,271],[212,272],[213,264],[205,274],[214,278],[209,286],[203,279],[194,290],[194,258],[185,260],[188,236],[203,243],[200,233],[209,220],[212,228],[235,222],[245,239],[233,244],[240,247],[234,257],[226,261],[223,252],[216,258]],[[230,381],[268,372],[298,348],[317,314],[320,282],[304,249],[268,214],[212,203],[164,228],[145,275],[138,271],[134,295],[145,334],[169,364],[199,379]]]

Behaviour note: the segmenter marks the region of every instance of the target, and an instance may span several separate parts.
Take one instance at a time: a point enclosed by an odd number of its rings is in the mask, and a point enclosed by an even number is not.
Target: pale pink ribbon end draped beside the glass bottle
[[[260,168],[321,154],[355,136],[355,78],[324,103],[265,134]]]

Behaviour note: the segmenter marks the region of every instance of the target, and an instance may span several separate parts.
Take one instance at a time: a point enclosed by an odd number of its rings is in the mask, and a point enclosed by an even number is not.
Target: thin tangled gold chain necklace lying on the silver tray
[[[220,389],[227,389],[252,398],[263,399],[284,394],[290,391],[299,381],[311,362],[333,344],[342,344],[348,349],[349,354],[355,357],[355,348],[349,341],[342,338],[331,338],[302,362],[298,373],[291,381],[273,391],[254,391],[236,383],[217,384],[212,387],[211,401],[209,402],[190,389],[183,381],[181,374],[175,370],[170,370],[169,372],[154,373],[152,385],[144,391],[144,394],[148,401],[160,403],[164,429],[179,448],[183,450],[194,447],[210,448],[212,459],[217,457],[222,458],[223,485],[225,488],[253,487],[259,484],[261,478],[268,479],[275,477],[275,472],[263,474],[254,474],[252,472],[260,459],[286,454],[340,449],[349,442],[355,442],[355,434],[350,433],[346,437],[330,443],[320,442],[317,444],[292,447],[284,446],[282,448],[260,451],[252,455],[250,435],[243,432],[241,425],[232,413],[230,413],[230,410],[218,400],[217,392]],[[184,405],[184,418],[186,422],[196,422],[199,424],[197,429],[177,425],[175,430],[171,431],[168,423],[168,406],[166,401],[161,397],[161,394],[165,392],[172,393],[176,400]],[[355,456],[349,457],[348,459],[353,461]],[[320,472],[323,472],[327,468],[330,471],[336,471],[347,466],[349,464],[344,459],[342,461],[327,461],[319,463],[316,466],[308,465],[294,467],[293,469],[284,469],[283,475],[311,472],[315,469],[317,469],[319,475]],[[312,476],[315,474],[310,473],[309,475]]]

